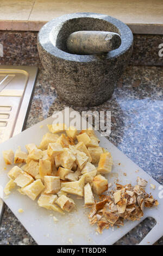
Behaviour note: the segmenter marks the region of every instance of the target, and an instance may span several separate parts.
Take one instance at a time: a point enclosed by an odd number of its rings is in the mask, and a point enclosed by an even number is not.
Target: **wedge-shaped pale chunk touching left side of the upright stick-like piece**
[[[70,194],[77,194],[77,196],[84,196],[85,178],[82,176],[78,181],[61,183],[61,190]]]

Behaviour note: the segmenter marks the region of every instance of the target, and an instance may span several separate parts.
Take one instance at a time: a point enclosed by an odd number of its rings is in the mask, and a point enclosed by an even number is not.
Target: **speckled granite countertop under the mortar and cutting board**
[[[111,111],[111,134],[109,140],[131,160],[163,185],[161,169],[161,112],[163,70],[155,66],[128,66],[117,82],[111,99],[96,107],[73,107],[81,111]],[[27,125],[49,117],[66,105],[55,93],[55,84],[41,70],[37,78],[35,93],[30,107]],[[135,245],[155,225],[148,218],[116,245]],[[35,241],[5,206],[0,226],[0,245],[35,245]],[[156,242],[163,245],[163,237]]]

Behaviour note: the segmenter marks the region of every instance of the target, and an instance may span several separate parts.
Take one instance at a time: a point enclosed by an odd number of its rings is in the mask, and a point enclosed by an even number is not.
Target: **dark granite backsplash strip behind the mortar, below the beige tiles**
[[[134,49],[130,65],[163,66],[163,57],[159,57],[159,44],[163,35],[134,35]],[[3,45],[3,57],[0,65],[36,65],[41,66],[37,52],[37,32],[0,31],[0,44]]]

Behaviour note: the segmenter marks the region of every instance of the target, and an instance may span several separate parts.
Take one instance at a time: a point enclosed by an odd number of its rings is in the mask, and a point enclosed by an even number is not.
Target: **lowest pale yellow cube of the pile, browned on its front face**
[[[74,201],[64,196],[64,194],[56,200],[56,203],[60,206],[62,210],[65,210],[67,212],[72,211],[75,206]]]

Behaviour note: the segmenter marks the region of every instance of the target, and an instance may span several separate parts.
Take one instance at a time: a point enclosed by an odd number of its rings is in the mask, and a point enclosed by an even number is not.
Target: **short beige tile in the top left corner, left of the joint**
[[[28,20],[34,0],[0,0],[1,20]]]

